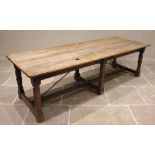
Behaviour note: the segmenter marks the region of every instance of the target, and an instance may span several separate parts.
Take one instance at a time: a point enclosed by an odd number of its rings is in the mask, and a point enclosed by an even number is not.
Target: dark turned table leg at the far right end
[[[141,71],[141,65],[142,65],[144,51],[145,51],[145,48],[143,48],[143,49],[141,49],[139,51],[138,65],[137,65],[137,70],[136,70],[136,74],[135,74],[135,76],[137,76],[137,77],[140,76],[140,71]]]

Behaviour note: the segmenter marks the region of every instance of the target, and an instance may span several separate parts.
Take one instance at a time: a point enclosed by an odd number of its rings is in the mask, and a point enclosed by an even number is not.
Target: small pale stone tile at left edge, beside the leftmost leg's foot
[[[0,104],[12,104],[16,96],[16,86],[0,86]]]

